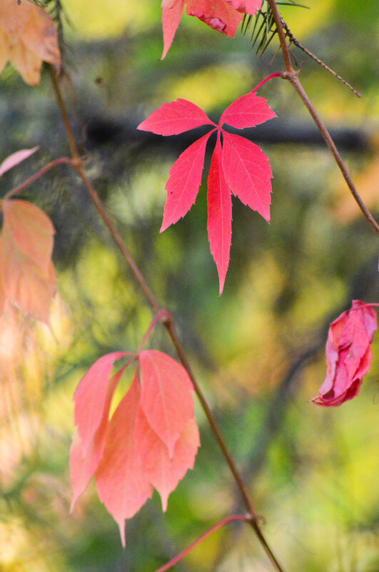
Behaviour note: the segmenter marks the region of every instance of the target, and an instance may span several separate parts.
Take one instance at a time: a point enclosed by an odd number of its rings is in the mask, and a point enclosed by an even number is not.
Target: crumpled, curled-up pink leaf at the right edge
[[[378,328],[372,306],[353,300],[351,309],[330,324],[326,343],[326,378],[313,403],[338,406],[360,390],[373,359],[370,343]]]

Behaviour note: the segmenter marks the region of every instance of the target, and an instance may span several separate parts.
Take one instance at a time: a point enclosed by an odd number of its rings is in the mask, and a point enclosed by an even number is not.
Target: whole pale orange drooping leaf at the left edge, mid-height
[[[49,216],[27,201],[5,200],[2,207],[0,269],[5,296],[25,313],[49,324],[56,290],[51,262],[54,226]]]

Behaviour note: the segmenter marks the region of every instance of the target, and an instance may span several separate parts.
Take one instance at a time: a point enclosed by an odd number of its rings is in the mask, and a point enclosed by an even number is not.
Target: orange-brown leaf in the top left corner
[[[37,86],[42,61],[61,66],[58,34],[53,19],[29,1],[0,2],[0,73],[11,61],[23,79]]]

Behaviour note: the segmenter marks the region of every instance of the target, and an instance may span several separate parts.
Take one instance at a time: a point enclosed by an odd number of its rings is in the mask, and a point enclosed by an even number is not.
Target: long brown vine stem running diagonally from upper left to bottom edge
[[[49,74],[51,76],[51,81],[53,84],[54,92],[56,94],[56,100],[58,102],[59,109],[61,111],[61,116],[62,116],[62,119],[64,121],[64,128],[66,130],[67,139],[69,141],[69,147],[70,147],[71,156],[72,156],[70,164],[76,170],[76,172],[79,174],[81,180],[83,181],[83,184],[86,187],[86,190],[87,190],[89,196],[91,197],[92,201],[94,202],[94,205],[96,206],[98,214],[101,216],[101,219],[103,219],[103,223],[106,225],[109,234],[111,235],[113,241],[116,243],[116,246],[118,246],[118,249],[121,252],[123,258],[128,263],[134,277],[136,278],[136,281],[138,282],[143,293],[145,294],[146,298],[148,299],[148,302],[150,303],[151,307],[153,308],[153,311],[157,314],[161,313],[161,323],[163,323],[163,326],[165,326],[165,328],[168,332],[168,336],[170,336],[171,341],[173,343],[173,346],[176,348],[176,352],[178,353],[178,358],[180,359],[183,367],[186,369],[188,376],[191,378],[191,381],[193,383],[193,388],[194,388],[195,393],[198,397],[198,400],[201,403],[203,411],[206,414],[206,418],[208,420],[209,425],[211,426],[211,429],[213,431],[213,435],[215,436],[216,441],[218,442],[218,445],[221,448],[223,456],[226,458],[226,462],[228,463],[228,466],[231,470],[233,478],[236,481],[236,485],[237,485],[237,487],[241,493],[241,496],[243,498],[243,502],[245,503],[245,506],[246,506],[248,513],[249,513],[248,523],[250,523],[251,527],[253,528],[253,531],[256,533],[256,536],[257,536],[258,540],[260,541],[263,550],[266,552],[266,556],[268,557],[268,560],[271,562],[271,565],[273,566],[273,568],[277,572],[285,572],[284,568],[281,566],[281,564],[279,563],[275,554],[273,553],[273,550],[271,549],[268,542],[266,541],[266,538],[263,535],[263,532],[261,531],[261,528],[258,524],[258,521],[259,521],[258,514],[256,513],[256,510],[253,506],[253,503],[252,503],[250,497],[248,496],[248,491],[246,489],[246,486],[243,483],[241,473],[238,471],[236,463],[234,462],[233,457],[231,456],[231,453],[229,453],[229,451],[228,451],[228,447],[226,446],[226,443],[223,440],[223,436],[221,435],[221,431],[218,428],[218,425],[216,423],[216,419],[213,416],[211,408],[208,406],[206,398],[203,395],[203,391],[201,391],[201,388],[198,385],[198,382],[196,381],[196,377],[195,377],[195,375],[192,371],[192,368],[190,366],[190,363],[186,357],[186,353],[183,350],[183,346],[181,345],[181,341],[178,338],[178,335],[176,333],[175,321],[174,321],[173,316],[168,311],[163,311],[161,309],[161,307],[159,306],[158,301],[156,301],[156,298],[153,296],[153,293],[151,292],[151,289],[148,287],[148,284],[146,283],[146,280],[144,279],[143,274],[138,269],[136,262],[134,261],[130,252],[126,248],[125,244],[123,244],[123,240],[121,239],[121,236],[118,234],[118,231],[116,229],[116,226],[113,224],[111,216],[109,216],[108,211],[106,211],[105,207],[103,206],[103,203],[101,202],[101,199],[99,198],[98,194],[96,193],[94,186],[92,185],[91,181],[89,180],[88,176],[86,175],[86,171],[84,170],[84,166],[83,166],[83,161],[81,159],[78,148],[76,146],[74,133],[71,129],[71,124],[69,121],[69,115],[68,115],[67,109],[66,109],[66,104],[64,103],[64,99],[63,99],[63,96],[61,94],[61,89],[59,87],[59,83],[58,83],[58,80],[56,78],[56,74],[54,72],[53,67],[50,64],[48,65],[48,69],[49,69]]]

